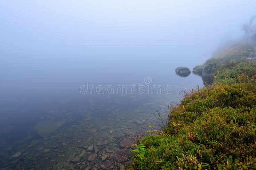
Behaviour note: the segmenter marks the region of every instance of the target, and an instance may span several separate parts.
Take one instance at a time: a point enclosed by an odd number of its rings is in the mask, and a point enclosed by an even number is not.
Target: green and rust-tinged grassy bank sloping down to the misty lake
[[[239,48],[215,56],[215,83],[170,106],[167,126],[136,145],[128,169],[256,169],[256,63]]]

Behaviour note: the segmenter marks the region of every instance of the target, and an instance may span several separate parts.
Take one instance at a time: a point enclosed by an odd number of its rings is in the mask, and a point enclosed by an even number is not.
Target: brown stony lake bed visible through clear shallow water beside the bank
[[[41,116],[42,121],[29,125],[22,138],[18,134],[7,138],[8,133],[15,131],[15,125],[6,124],[0,132],[5,137],[0,141],[1,169],[120,168],[130,159],[125,147],[134,143],[136,135],[145,135],[149,125],[159,129],[155,113],[166,113],[167,105],[138,103],[137,108],[122,108],[116,99],[116,104],[106,108],[91,100],[89,109],[88,105],[73,110],[48,110],[44,116],[35,113],[32,117]]]

